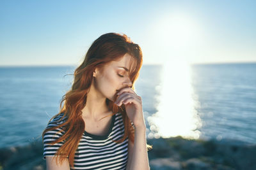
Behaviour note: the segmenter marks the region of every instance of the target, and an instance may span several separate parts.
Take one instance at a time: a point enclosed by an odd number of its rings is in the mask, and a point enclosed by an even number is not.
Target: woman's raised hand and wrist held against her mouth
[[[121,89],[117,94],[115,104],[122,106],[125,104],[125,111],[127,116],[132,121],[136,128],[145,128],[145,121],[143,117],[143,108],[141,97],[138,96],[131,87],[125,87]]]

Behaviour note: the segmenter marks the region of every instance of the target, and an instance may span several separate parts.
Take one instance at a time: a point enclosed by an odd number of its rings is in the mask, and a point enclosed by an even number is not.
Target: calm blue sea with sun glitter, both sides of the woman
[[[0,148],[42,139],[75,69],[0,67]],[[135,88],[143,101],[147,138],[256,144],[256,63],[145,64]]]

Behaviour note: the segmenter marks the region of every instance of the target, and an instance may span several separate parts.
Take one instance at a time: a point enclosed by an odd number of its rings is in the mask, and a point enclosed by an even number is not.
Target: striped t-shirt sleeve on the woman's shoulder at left
[[[49,122],[49,124],[47,124],[46,129],[48,129],[49,127],[53,127],[53,126],[57,126],[59,123],[56,123],[56,120],[58,120],[58,118],[54,118],[51,122]],[[44,143],[44,152],[43,152],[43,159],[45,160],[45,157],[53,157],[54,154],[58,151],[58,149],[60,148],[60,146],[63,145],[64,141],[61,141],[59,143],[54,143],[49,144],[51,141],[55,141],[58,138],[61,138],[61,136],[63,136],[64,132],[59,132],[60,130],[62,130],[63,128],[57,128],[57,129],[53,129],[52,131],[47,131],[44,134],[44,138],[43,138],[43,143]]]

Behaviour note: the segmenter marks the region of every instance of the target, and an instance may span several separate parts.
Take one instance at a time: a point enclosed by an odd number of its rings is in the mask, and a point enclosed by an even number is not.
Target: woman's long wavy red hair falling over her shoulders
[[[59,143],[65,140],[65,143],[63,143],[63,145],[58,149],[57,153],[55,153],[56,156],[60,157],[60,163],[63,162],[66,157],[68,157],[70,165],[72,167],[74,166],[75,152],[85,127],[81,110],[86,104],[86,96],[92,85],[93,71],[95,67],[102,67],[108,62],[118,60],[120,57],[124,56],[125,53],[129,53],[129,55],[132,56],[131,60],[133,60],[133,62],[130,62],[131,71],[129,71],[129,77],[132,81],[131,88],[132,90],[135,90],[134,81],[136,81],[139,76],[139,71],[143,62],[142,52],[140,46],[133,43],[125,34],[110,32],[97,38],[95,41],[93,41],[92,45],[88,49],[83,63],[74,71],[72,88],[68,90],[65,95],[63,95],[60,103],[60,112],[54,115],[49,122],[51,122],[53,118],[60,116],[61,113],[64,114],[59,121],[63,120],[64,117],[67,117],[67,120],[60,125],[45,129],[42,133],[42,138],[44,139],[45,132],[52,131],[53,129],[57,129],[59,127],[63,128],[65,134],[63,134],[61,138],[48,143],[53,145],[54,143]],[[131,65],[131,63],[133,64]],[[129,138],[129,140],[134,143],[134,129],[131,121],[125,113],[124,104],[121,107],[118,107],[108,98],[106,99],[106,104],[109,109],[113,111],[113,115],[117,112],[122,113],[122,118],[124,121],[124,136],[122,139],[115,142],[120,143],[126,138]],[[151,146],[147,145],[147,148],[151,148]]]

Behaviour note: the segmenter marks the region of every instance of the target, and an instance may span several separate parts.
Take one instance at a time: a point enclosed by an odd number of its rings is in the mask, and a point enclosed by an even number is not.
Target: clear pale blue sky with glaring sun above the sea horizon
[[[80,64],[108,32],[143,64],[256,62],[256,1],[0,1],[0,66]]]

